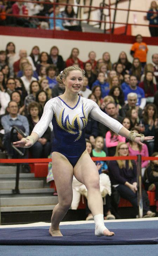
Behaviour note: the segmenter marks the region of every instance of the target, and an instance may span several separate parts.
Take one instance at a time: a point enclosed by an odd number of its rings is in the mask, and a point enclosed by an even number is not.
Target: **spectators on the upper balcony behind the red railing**
[[[46,2],[46,4],[43,2]],[[54,2],[58,4],[58,1]],[[10,14],[10,16],[7,14]],[[18,17],[18,15],[21,16]],[[55,21],[53,19],[54,17],[57,18]],[[158,7],[156,1],[151,2],[146,19],[149,20],[151,37],[157,37]],[[57,30],[82,31],[80,21],[77,20],[77,15],[71,5],[54,6],[51,0],[42,1],[42,3],[40,3],[40,1],[39,3],[27,1],[0,1],[0,25],[54,29],[54,22],[55,29]]]

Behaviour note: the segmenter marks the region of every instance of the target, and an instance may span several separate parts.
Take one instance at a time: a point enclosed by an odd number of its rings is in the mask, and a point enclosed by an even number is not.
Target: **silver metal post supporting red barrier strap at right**
[[[137,155],[137,184],[138,184],[138,210],[139,218],[143,217],[143,199],[142,199],[142,178],[141,178],[141,155]]]

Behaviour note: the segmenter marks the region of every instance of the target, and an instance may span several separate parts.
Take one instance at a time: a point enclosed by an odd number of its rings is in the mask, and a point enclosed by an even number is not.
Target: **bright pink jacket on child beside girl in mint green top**
[[[105,136],[106,147],[116,147],[119,142],[126,142],[126,138],[120,135],[114,135],[111,138],[111,133],[108,131]]]

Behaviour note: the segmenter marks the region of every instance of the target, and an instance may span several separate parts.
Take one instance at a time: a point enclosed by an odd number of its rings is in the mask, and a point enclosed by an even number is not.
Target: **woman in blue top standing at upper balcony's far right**
[[[149,27],[151,37],[158,37],[158,7],[156,1],[151,2],[149,11],[147,12],[147,20],[149,20],[149,25],[155,25]]]

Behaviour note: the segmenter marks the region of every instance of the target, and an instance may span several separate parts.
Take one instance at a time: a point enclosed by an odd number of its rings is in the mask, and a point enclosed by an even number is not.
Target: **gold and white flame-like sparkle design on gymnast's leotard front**
[[[61,129],[63,129],[64,131],[67,131],[71,134],[77,134],[78,137],[75,139],[78,140],[81,135],[82,135],[82,130],[85,128],[85,126],[87,125],[87,121],[88,121],[88,116],[86,117],[86,114],[85,114],[85,108],[84,108],[84,104],[82,105],[82,112],[83,112],[83,117],[79,117],[78,114],[76,114],[72,120],[72,124],[70,123],[70,120],[69,120],[69,115],[66,116],[65,120],[64,120],[64,111],[65,111],[65,108],[63,108],[61,111],[60,111],[60,114],[59,114],[59,119],[55,113],[55,118],[57,120],[57,123],[58,125],[60,126]],[[83,128],[81,130],[81,126],[80,126],[80,122],[79,122],[79,119],[82,120],[82,123],[83,123]],[[78,130],[77,131],[74,131],[77,129],[76,125],[78,126]]]

